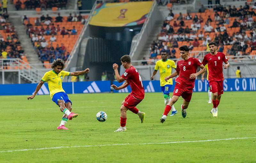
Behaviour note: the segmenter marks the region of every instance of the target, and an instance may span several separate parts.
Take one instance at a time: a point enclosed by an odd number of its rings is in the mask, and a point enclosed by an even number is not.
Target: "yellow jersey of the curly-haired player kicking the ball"
[[[70,72],[67,71],[60,71],[59,74],[57,74],[55,71],[51,70],[44,74],[42,81],[48,83],[48,88],[50,91],[51,98],[55,93],[58,92],[65,92],[62,88],[62,81],[65,76],[69,76]]]

